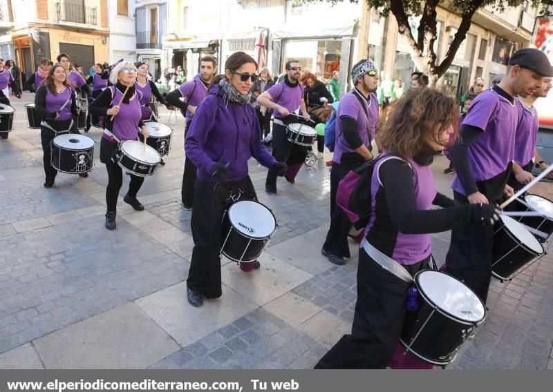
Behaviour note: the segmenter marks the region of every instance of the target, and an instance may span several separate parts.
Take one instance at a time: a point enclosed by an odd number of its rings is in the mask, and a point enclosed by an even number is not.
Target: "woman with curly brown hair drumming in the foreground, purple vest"
[[[436,191],[431,164],[456,132],[453,124],[456,104],[437,90],[411,89],[391,106],[379,129],[384,154],[375,163],[372,200],[367,201],[371,218],[359,249],[352,332],[341,337],[316,369],[384,369],[390,362],[412,283],[385,269],[382,259],[412,277],[429,264],[430,233],[469,222],[491,226],[499,219],[495,206],[456,206]],[[443,208],[433,210],[432,205]]]

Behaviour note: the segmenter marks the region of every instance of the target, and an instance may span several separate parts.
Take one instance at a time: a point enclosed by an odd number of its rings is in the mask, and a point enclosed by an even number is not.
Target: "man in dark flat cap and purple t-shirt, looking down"
[[[451,188],[460,203],[498,204],[512,195],[507,185],[515,155],[518,109],[515,97],[528,97],[553,76],[543,52],[526,48],[512,55],[507,74],[499,84],[481,92],[460,128],[460,141],[449,149],[456,177]],[[465,282],[486,301],[491,279],[494,228],[463,225],[451,231],[447,272]]]

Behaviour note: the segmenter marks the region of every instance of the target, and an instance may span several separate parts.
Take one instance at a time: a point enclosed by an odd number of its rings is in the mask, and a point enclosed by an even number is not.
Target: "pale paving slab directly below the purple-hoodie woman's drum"
[[[268,253],[263,253],[259,262],[261,268],[249,273],[244,273],[234,263],[225,264],[221,268],[221,280],[260,306],[312,277],[310,273]]]

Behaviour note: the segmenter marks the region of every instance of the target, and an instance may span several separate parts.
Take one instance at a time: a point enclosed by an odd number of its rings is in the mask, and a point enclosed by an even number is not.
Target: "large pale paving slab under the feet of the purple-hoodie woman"
[[[196,342],[257,307],[223,284],[221,298],[204,300],[203,306],[194,308],[187,302],[186,282],[140,298],[136,303],[181,346]]]

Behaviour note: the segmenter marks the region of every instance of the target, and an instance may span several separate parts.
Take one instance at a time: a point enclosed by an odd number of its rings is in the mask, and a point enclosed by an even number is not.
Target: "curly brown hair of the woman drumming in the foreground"
[[[411,88],[391,106],[386,123],[379,129],[378,140],[388,153],[412,158],[424,148],[424,137],[438,135],[453,126],[457,137],[458,112],[455,101],[433,88]]]

